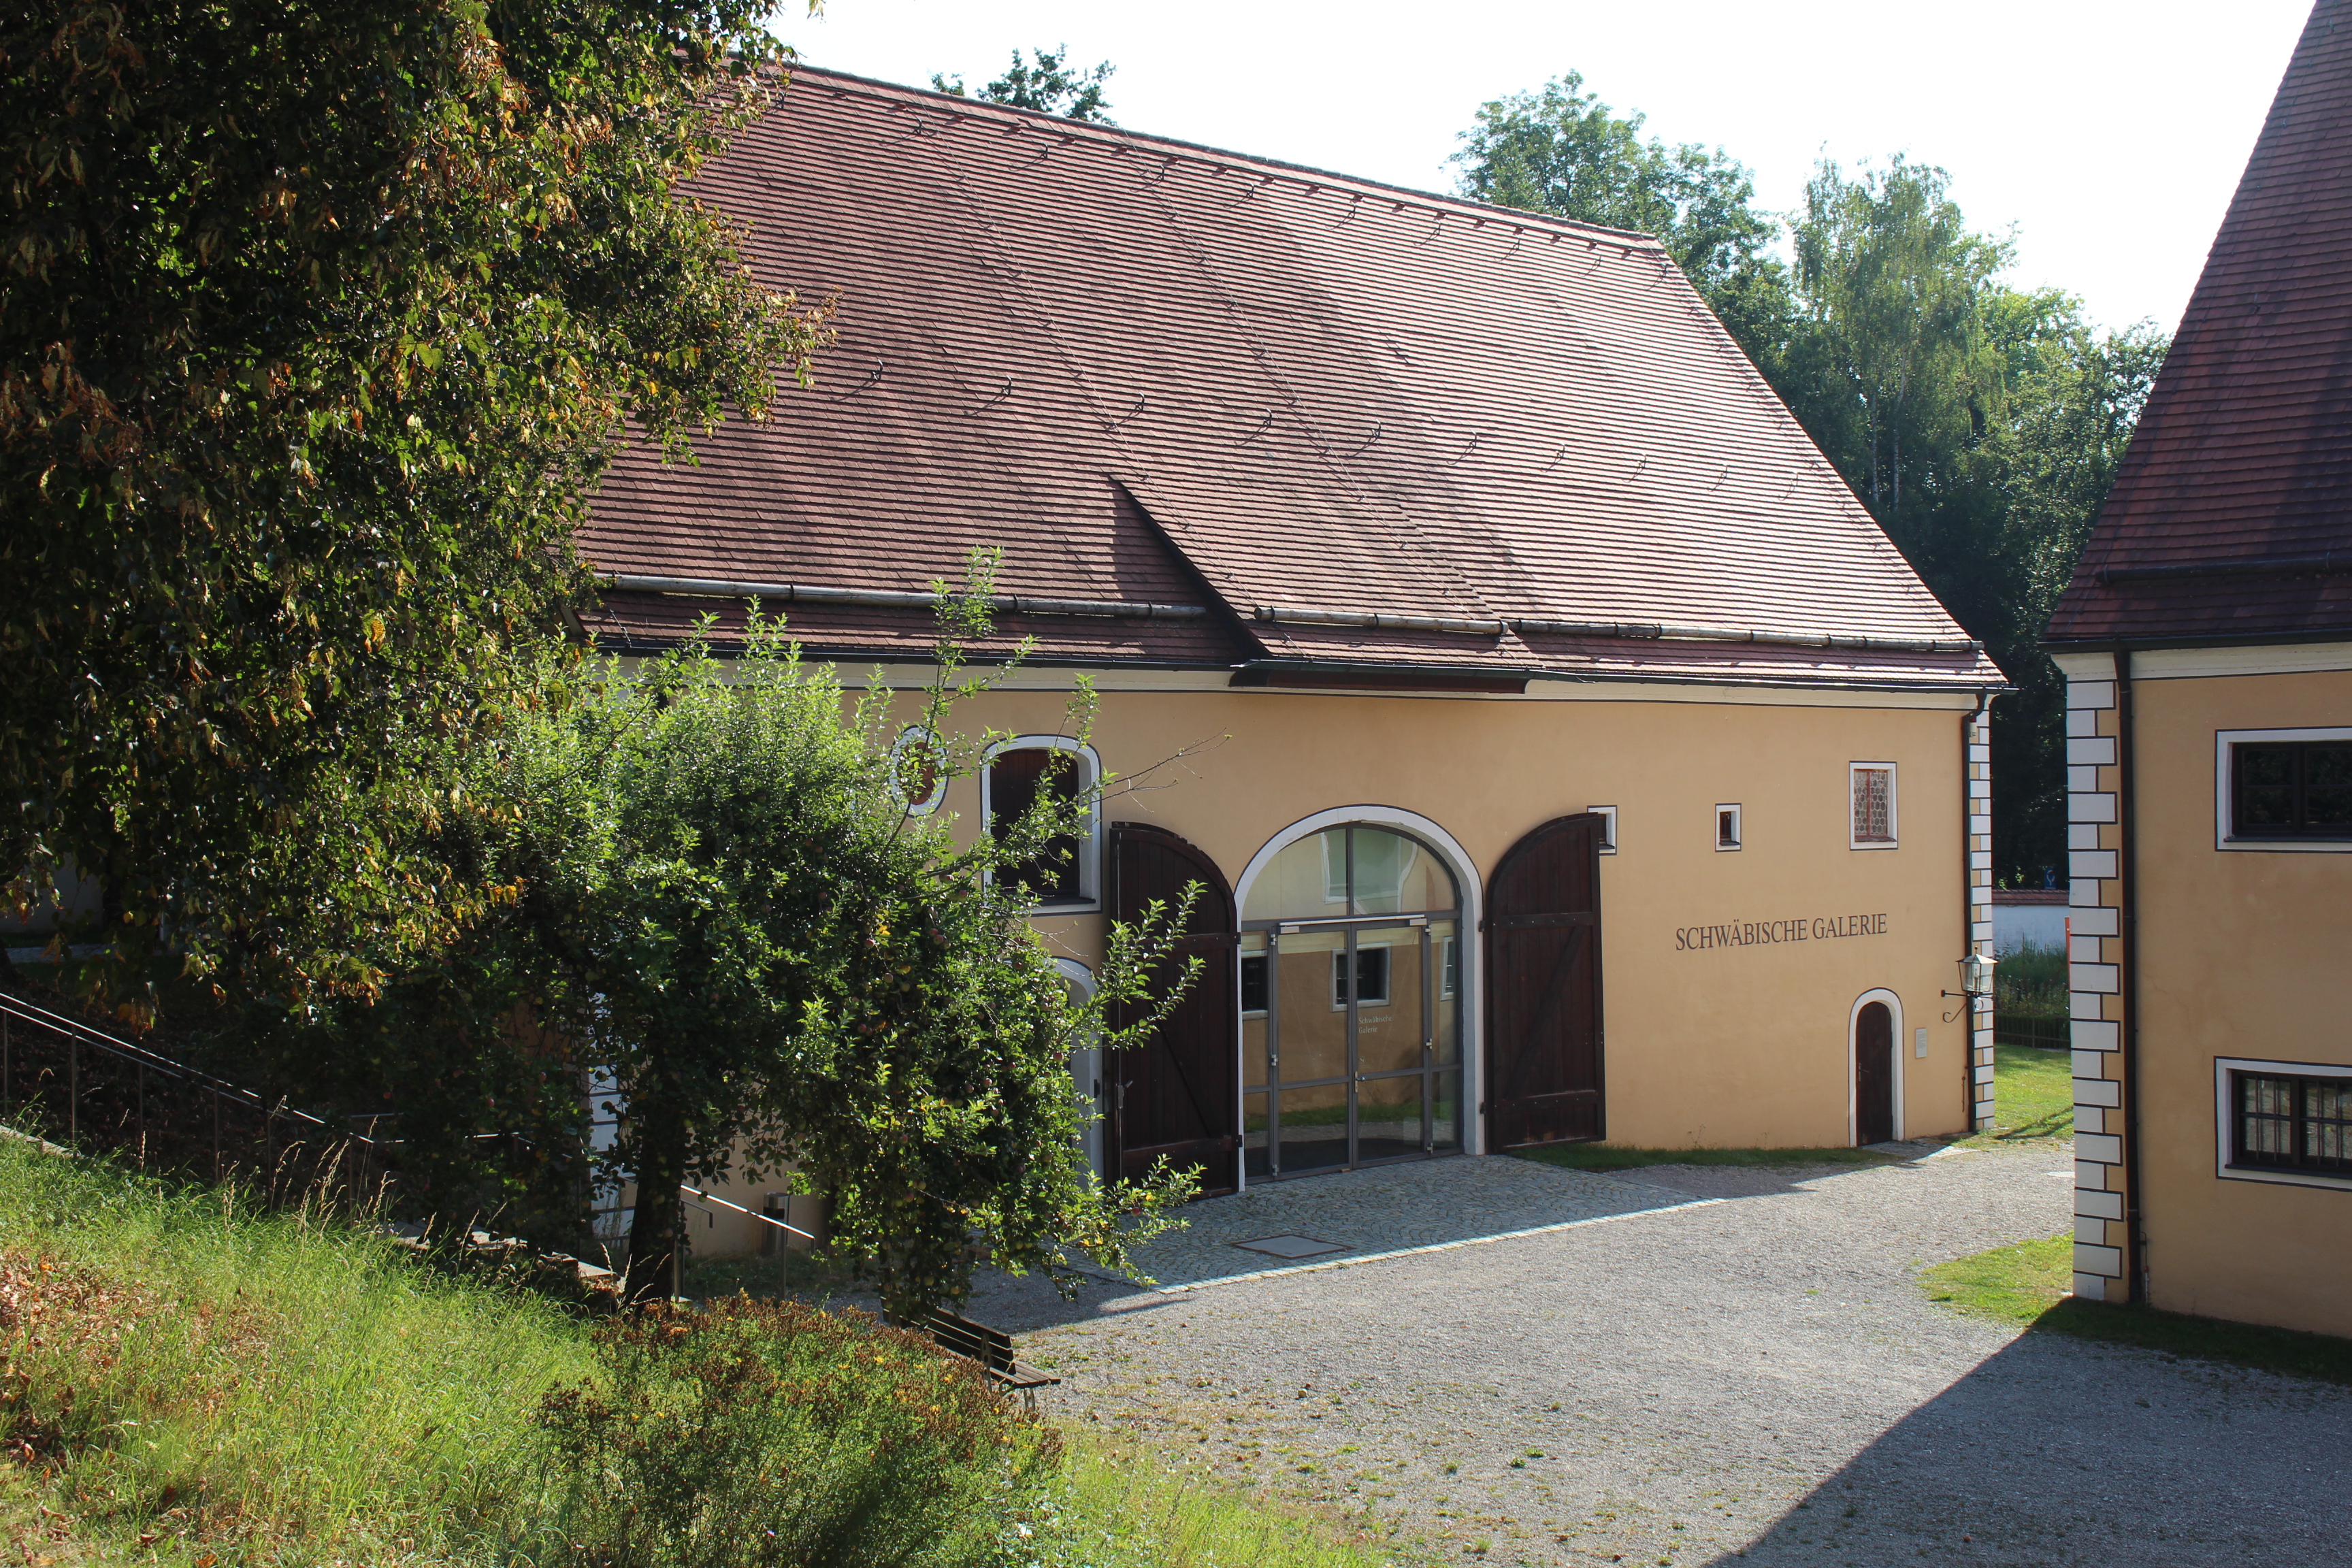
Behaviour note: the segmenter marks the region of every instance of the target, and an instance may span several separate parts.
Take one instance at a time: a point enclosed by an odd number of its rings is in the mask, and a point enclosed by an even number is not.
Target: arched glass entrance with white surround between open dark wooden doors
[[[1461,1150],[1465,924],[1449,856],[1345,818],[1277,844],[1251,860],[1242,905],[1247,1175]]]

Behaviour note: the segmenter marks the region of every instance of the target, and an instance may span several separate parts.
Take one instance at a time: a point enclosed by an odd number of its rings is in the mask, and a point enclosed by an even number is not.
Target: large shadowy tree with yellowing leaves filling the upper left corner
[[[367,990],[480,889],[423,741],[539,701],[623,435],[818,322],[677,195],[779,87],[767,0],[52,0],[0,21],[0,863],[125,971]],[[433,750],[426,745],[423,750]],[[318,926],[327,931],[320,933]]]

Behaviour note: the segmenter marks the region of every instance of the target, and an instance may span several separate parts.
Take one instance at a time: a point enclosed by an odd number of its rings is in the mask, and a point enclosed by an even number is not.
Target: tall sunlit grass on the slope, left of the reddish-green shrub
[[[593,1375],[529,1295],[388,1239],[0,1140],[0,1420],[59,1505],[256,1561],[470,1554]]]

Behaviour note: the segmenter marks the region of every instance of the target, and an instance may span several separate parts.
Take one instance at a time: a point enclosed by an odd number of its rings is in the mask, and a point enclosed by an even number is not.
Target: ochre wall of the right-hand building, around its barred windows
[[[2213,1063],[2352,1065],[2352,851],[2216,849],[2216,733],[2352,724],[2352,672],[2140,679],[2140,1211],[2150,1302],[2352,1333],[2352,1182],[2216,1175]]]

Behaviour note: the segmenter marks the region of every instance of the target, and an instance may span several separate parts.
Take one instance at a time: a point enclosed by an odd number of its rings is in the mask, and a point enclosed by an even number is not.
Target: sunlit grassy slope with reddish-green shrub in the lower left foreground
[[[866,1319],[746,1305],[731,1338],[708,1328],[727,1321],[640,1321],[637,1349],[614,1352],[609,1328],[600,1345],[581,1316],[367,1229],[0,1138],[0,1556],[1392,1561],[1338,1519],[1025,1418]]]

